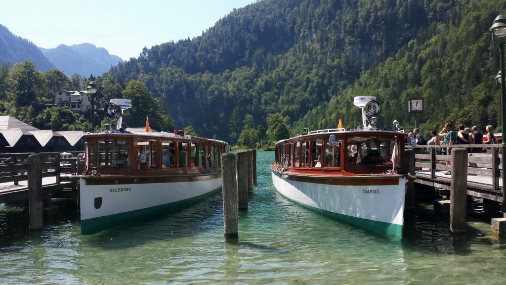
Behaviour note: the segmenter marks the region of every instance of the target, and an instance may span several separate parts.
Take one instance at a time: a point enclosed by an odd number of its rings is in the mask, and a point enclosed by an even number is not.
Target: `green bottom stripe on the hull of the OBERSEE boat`
[[[312,209],[317,212],[323,213],[324,215],[332,217],[334,219],[337,219],[337,220],[340,220],[340,221],[343,221],[346,223],[350,223],[350,224],[353,224],[355,226],[359,226],[362,228],[366,228],[366,229],[369,229],[372,231],[376,231],[376,232],[380,232],[380,233],[384,233],[384,234],[388,234],[388,235],[402,238],[402,231],[403,231],[402,225],[391,224],[391,223],[386,223],[386,222],[379,222],[379,221],[371,221],[371,220],[367,220],[367,219],[343,215],[340,213],[329,212],[326,210],[322,210],[319,208],[308,206],[306,204],[299,203],[297,201],[294,201],[294,200],[284,196],[283,194],[281,194],[281,195],[296,204],[299,204],[305,208]]]

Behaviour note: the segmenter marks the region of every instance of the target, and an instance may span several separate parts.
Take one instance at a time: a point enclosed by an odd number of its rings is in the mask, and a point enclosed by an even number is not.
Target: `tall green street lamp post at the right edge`
[[[506,43],[506,17],[499,15],[494,19],[490,27],[492,32],[492,43],[499,45],[500,55],[500,75],[497,74],[496,79],[501,85],[501,118],[502,118],[502,142],[501,142],[501,164],[506,165],[506,87],[504,87],[504,43]],[[506,173],[502,168],[502,204],[501,212],[506,218]]]

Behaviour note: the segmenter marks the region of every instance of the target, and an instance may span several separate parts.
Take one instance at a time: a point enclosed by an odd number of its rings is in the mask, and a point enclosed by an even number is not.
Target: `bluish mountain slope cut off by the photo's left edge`
[[[14,35],[7,27],[0,24],[0,62],[6,61],[13,65],[25,60],[35,63],[41,72],[47,72],[55,67],[37,46]]]

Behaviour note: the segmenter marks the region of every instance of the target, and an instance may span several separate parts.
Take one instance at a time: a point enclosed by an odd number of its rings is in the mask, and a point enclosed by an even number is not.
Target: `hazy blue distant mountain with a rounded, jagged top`
[[[44,55],[65,75],[73,74],[81,76],[100,76],[111,66],[121,63],[123,60],[118,56],[111,55],[104,48],[84,43],[80,45],[59,45],[54,49],[40,48]]]

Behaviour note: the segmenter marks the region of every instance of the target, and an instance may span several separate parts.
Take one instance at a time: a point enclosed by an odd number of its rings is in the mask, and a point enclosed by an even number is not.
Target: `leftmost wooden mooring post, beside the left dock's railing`
[[[28,157],[28,212],[30,230],[42,229],[42,207],[42,167],[40,164],[40,154],[31,154]]]

